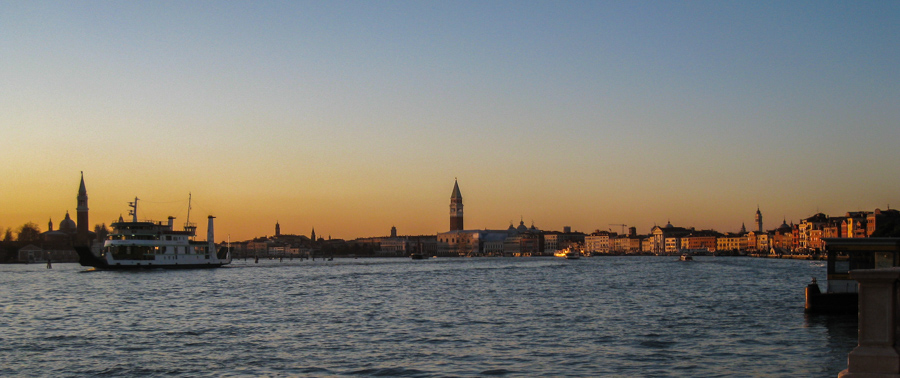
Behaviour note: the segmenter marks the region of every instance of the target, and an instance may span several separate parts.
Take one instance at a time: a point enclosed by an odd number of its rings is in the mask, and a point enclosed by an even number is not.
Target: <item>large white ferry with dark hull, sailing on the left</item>
[[[130,222],[119,217],[112,224],[109,234],[97,256],[89,246],[76,247],[79,263],[97,269],[127,270],[149,268],[218,268],[231,263],[231,251],[223,248],[216,250],[213,232],[213,219],[209,216],[206,241],[195,241],[197,226],[190,222],[190,205],[188,205],[188,222],[184,229],[174,229],[175,218],[169,217],[168,223],[151,220],[138,221],[137,201],[128,204],[132,210]]]

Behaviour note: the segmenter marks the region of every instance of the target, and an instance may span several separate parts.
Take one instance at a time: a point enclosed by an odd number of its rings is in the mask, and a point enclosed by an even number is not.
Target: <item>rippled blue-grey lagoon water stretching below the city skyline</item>
[[[0,376],[834,377],[819,261],[697,257],[0,265]]]

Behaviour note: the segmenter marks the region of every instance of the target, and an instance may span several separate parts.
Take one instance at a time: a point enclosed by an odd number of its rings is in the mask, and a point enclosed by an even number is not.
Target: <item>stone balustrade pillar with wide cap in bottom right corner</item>
[[[900,268],[850,272],[859,282],[859,344],[847,358],[843,378],[900,378],[897,346]]]

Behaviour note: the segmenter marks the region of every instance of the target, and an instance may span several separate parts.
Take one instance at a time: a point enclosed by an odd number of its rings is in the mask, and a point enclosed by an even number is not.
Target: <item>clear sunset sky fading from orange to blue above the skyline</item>
[[[738,231],[900,207],[897,1],[0,0],[0,228]],[[202,234],[201,234],[202,235]]]

